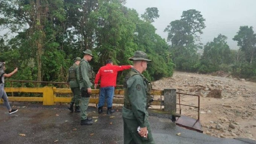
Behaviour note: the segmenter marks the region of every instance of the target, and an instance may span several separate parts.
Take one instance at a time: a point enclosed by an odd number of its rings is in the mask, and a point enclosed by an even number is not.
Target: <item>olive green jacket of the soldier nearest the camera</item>
[[[127,80],[127,88],[125,88],[124,107],[122,115],[126,119],[137,119],[140,127],[146,127],[148,122],[147,104],[147,83],[144,81],[143,75],[132,69],[131,72],[138,74],[132,75]],[[130,74],[131,74],[130,72]],[[130,103],[131,109],[127,109],[125,105]]]

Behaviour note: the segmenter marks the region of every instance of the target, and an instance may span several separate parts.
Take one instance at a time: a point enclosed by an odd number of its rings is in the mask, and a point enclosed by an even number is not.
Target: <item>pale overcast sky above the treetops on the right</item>
[[[125,6],[135,9],[139,15],[148,7],[157,7],[160,17],[153,25],[156,33],[165,39],[168,34],[163,30],[167,25],[189,9],[200,11],[206,19],[206,28],[200,35],[203,44],[221,33],[228,37],[230,48],[237,49],[237,42],[232,38],[240,26],[253,26],[256,33],[256,0],[127,0]]]

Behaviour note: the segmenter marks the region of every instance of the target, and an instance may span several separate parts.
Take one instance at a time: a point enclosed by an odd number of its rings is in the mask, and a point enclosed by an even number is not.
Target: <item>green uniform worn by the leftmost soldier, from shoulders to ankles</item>
[[[71,76],[71,73],[74,71],[74,76]],[[80,81],[80,73],[79,73],[79,66],[77,66],[76,63],[74,63],[69,68],[69,85],[71,88],[71,91],[73,92],[74,97],[71,99],[71,103],[75,103],[75,106],[80,106],[81,101],[81,93],[80,93],[80,87],[79,87],[79,81]]]

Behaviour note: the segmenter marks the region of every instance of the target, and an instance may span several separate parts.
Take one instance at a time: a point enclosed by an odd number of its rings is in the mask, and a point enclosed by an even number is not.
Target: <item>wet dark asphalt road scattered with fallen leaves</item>
[[[93,118],[97,122],[81,126],[80,114],[70,113],[67,106],[17,106],[19,111],[12,115],[0,106],[0,144],[123,144],[121,108],[107,115],[106,109],[98,114],[96,107],[88,107],[88,115],[97,117]],[[156,144],[256,144],[249,139],[215,138],[187,130],[160,114],[151,113],[149,120]]]

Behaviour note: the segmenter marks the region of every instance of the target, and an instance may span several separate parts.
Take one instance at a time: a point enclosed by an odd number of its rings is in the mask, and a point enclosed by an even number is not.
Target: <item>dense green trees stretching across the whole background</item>
[[[124,6],[126,0],[0,0],[0,30],[10,32],[0,39],[0,60],[6,72],[18,67],[15,80],[66,82],[72,59],[85,49],[95,55],[94,71],[106,59],[131,64],[137,50],[152,62],[144,75],[153,80],[170,77],[174,69],[212,73],[225,71],[256,81],[256,33],[241,26],[233,40],[240,49],[230,49],[225,35],[216,35],[206,45],[200,34],[205,19],[197,10],[186,10],[166,27],[167,41],[156,34],[152,23],[157,8],[141,16]],[[10,35],[15,35],[12,37]],[[201,49],[202,54],[198,51]],[[119,84],[127,72],[118,76]]]

